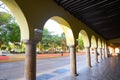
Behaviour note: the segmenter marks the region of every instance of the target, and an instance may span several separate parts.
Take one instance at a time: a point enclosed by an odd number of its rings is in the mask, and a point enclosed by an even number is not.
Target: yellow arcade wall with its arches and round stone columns
[[[24,43],[26,44],[25,70],[24,70],[25,80],[36,80],[37,41],[31,39],[37,38],[36,40],[40,40],[40,36],[42,35],[41,29],[43,29],[44,23],[46,20],[48,20],[48,18],[53,17],[53,20],[56,20],[56,22],[58,22],[62,27],[65,27],[64,30],[66,31],[66,34],[68,33],[66,38],[70,44],[71,44],[70,41],[73,41],[74,37],[78,36],[78,32],[80,32],[81,29],[85,29],[90,34],[93,34],[96,37],[98,37],[96,33],[94,33],[91,29],[87,27],[87,25],[85,25],[84,23],[73,17],[71,14],[66,12],[60,6],[56,5],[56,3],[53,0],[48,0],[47,3],[45,0],[43,1],[30,0],[29,4],[28,1],[26,0],[22,0],[22,1],[2,0],[2,1],[4,1],[4,3],[10,8],[14,16],[16,17],[17,21],[19,22],[20,30],[21,30],[21,40],[26,40],[24,41]],[[32,7],[32,10],[29,10],[30,4],[34,6]],[[36,9],[38,7],[39,9]],[[67,23],[67,21],[71,24]],[[73,34],[74,36],[73,35],[71,36],[72,33],[74,33]],[[89,40],[87,40],[88,39],[87,33],[84,30],[81,30],[81,33],[85,36],[86,44],[89,43]],[[89,35],[89,37],[90,36],[91,35]],[[71,66],[70,70],[71,70],[71,75],[73,76],[77,75],[75,47],[76,45],[69,46],[70,66]],[[92,65],[91,65],[90,46],[85,47],[85,50],[86,50],[87,64],[89,67],[91,67]],[[98,62],[97,48],[95,48],[94,50],[95,50],[95,61],[97,63]],[[105,59],[105,55],[107,56],[107,50],[105,48],[104,49],[99,48],[99,50],[100,50],[100,59],[102,61],[103,59]]]

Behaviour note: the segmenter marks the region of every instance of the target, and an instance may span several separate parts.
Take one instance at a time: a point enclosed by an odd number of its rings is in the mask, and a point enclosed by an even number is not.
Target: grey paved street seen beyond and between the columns
[[[94,58],[92,58],[92,61]],[[37,60],[37,74],[48,72],[59,67],[66,66],[68,68],[70,64],[68,57],[48,58]],[[93,63],[92,63],[93,64]],[[77,56],[77,67],[86,65],[86,56]],[[70,68],[68,68],[70,69]],[[0,79],[16,80],[24,77],[24,61],[0,63]]]

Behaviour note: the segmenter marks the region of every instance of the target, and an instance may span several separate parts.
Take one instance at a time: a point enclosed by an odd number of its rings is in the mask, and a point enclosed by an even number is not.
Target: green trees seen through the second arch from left
[[[53,35],[52,32],[48,31],[48,29],[43,29],[42,40],[37,44],[37,50],[44,53],[45,50],[49,50],[51,52],[56,52],[58,49],[66,50],[66,39],[65,34],[62,33],[61,36]]]

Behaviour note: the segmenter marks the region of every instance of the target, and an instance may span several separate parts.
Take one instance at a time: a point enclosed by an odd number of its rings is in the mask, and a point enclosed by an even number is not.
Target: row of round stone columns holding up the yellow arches
[[[36,80],[36,44],[37,42],[29,40],[25,41],[26,52],[25,52],[25,80]],[[69,46],[70,49],[70,70],[72,76],[77,76],[76,67],[76,49],[75,45]],[[94,48],[95,62],[98,63],[97,48]],[[85,47],[86,61],[88,67],[91,67],[91,54],[90,47]],[[108,57],[107,48],[99,48],[101,61]],[[106,55],[106,56],[105,56]]]

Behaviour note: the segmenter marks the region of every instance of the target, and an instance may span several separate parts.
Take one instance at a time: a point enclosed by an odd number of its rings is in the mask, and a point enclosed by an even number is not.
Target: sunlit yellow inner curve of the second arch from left
[[[68,22],[65,19],[63,19],[62,17],[59,17],[59,16],[53,16],[49,19],[54,20],[55,22],[57,22],[61,26],[61,28],[63,29],[63,32],[65,33],[67,45],[68,46],[74,45],[75,44],[74,43],[74,36],[73,36],[71,27],[68,24]]]

